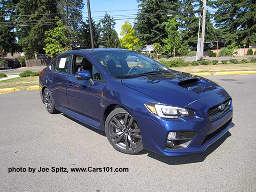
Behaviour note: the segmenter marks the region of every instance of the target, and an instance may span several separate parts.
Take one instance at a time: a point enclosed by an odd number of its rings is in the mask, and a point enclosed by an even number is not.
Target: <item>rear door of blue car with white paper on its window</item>
[[[60,107],[68,108],[66,91],[66,79],[69,72],[69,62],[71,55],[60,55],[52,63],[51,72],[47,77],[49,88],[52,91],[55,104]]]

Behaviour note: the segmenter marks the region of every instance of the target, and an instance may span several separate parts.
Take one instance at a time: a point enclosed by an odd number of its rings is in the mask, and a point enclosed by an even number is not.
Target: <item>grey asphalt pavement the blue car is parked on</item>
[[[204,153],[116,151],[104,133],[51,115],[38,90],[0,95],[0,191],[256,191],[256,75],[206,76],[233,98],[235,127]],[[128,172],[12,172],[11,167],[127,167]]]

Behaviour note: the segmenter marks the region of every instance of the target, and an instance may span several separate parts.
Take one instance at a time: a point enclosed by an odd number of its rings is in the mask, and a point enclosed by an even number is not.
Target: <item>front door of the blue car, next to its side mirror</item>
[[[81,65],[83,58],[85,57],[81,55],[73,55],[73,72],[67,76],[66,86],[69,108],[91,119],[100,121],[100,104],[105,81],[100,71],[93,64],[91,64],[92,69],[90,70],[92,71],[93,85],[90,85],[87,80],[77,80],[75,78],[74,74],[78,68],[77,65]],[[87,61],[90,62],[88,59]]]

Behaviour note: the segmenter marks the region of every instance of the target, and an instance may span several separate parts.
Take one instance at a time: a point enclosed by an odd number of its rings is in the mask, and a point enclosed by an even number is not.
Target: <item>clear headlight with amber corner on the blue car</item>
[[[145,103],[145,106],[150,112],[163,118],[179,118],[194,115],[193,110],[180,107],[161,105],[152,102]]]

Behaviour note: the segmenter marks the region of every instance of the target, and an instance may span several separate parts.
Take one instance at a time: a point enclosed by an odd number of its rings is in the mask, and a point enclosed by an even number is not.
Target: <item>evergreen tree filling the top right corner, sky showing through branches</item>
[[[216,27],[223,34],[227,45],[236,43],[246,47],[256,39],[256,0],[215,0],[213,8]]]

